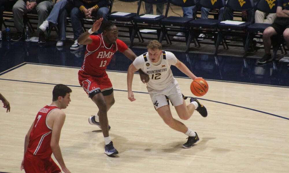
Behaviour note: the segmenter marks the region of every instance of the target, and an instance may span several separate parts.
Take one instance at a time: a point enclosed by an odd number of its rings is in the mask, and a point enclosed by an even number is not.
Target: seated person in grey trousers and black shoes
[[[52,0],[18,0],[12,8],[14,25],[17,33],[12,37],[12,41],[19,41],[23,37],[24,23],[23,14],[31,12],[36,9],[38,14],[38,27],[47,18],[49,12],[53,7]],[[39,40],[38,43],[45,43],[45,34],[41,29],[38,29]]]

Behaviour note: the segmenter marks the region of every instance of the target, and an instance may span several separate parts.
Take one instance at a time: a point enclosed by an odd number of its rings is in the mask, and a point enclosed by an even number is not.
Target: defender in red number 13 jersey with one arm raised
[[[85,44],[86,52],[84,62],[78,72],[79,84],[83,87],[88,97],[97,105],[98,116],[88,119],[92,125],[97,125],[102,129],[105,141],[104,153],[108,156],[118,154],[109,137],[107,112],[114,104],[113,88],[105,69],[110,63],[113,54],[119,50],[131,61],[137,57],[127,45],[117,39],[118,28],[111,21],[103,21],[103,18],[95,21],[92,28],[81,34],[78,38],[79,44]],[[103,33],[91,35],[102,25]],[[141,73],[140,73],[141,74]],[[148,75],[141,74],[143,83],[148,82]]]

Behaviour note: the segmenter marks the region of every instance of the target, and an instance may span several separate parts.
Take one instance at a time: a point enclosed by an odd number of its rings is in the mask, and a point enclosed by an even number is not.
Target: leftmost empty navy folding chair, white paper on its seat
[[[113,3],[114,0],[112,0]],[[119,0],[122,1],[124,3],[131,3],[131,2],[136,2],[138,0]],[[111,11],[112,8],[110,8]],[[132,29],[133,29],[133,22],[132,22],[132,18],[136,16],[136,13],[127,13],[127,12],[111,12],[108,15],[108,20],[112,20],[114,22],[114,24],[117,27],[121,27],[121,28],[128,28],[129,30],[129,38],[131,38],[131,33],[132,33]],[[143,39],[140,35],[140,32],[137,33],[138,39],[140,42],[143,42]],[[130,40],[131,41],[131,40]]]

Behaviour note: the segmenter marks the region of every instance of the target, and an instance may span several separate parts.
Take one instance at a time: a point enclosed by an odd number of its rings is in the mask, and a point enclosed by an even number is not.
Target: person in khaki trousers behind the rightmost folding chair
[[[264,13],[259,10],[256,10],[254,17],[255,17],[255,23],[272,24],[277,16],[276,16],[276,13]],[[258,34],[262,35],[262,33],[258,33]],[[260,43],[260,42],[263,42],[262,38],[254,38],[253,40],[257,42],[256,47],[264,47],[264,45]]]

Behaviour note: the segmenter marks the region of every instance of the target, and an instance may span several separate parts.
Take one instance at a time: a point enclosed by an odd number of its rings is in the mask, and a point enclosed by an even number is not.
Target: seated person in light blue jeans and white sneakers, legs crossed
[[[57,25],[58,28],[58,41],[56,43],[57,47],[62,47],[64,41],[66,40],[66,17],[68,12],[70,12],[72,8],[73,3],[71,0],[57,0],[49,16],[39,26],[39,28],[44,32],[48,28],[49,23]]]

